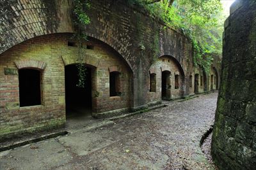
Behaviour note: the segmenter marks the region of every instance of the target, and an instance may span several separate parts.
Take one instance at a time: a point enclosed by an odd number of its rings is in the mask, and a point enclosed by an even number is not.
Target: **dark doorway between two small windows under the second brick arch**
[[[171,73],[170,71],[162,72],[162,99],[170,99],[171,97]]]

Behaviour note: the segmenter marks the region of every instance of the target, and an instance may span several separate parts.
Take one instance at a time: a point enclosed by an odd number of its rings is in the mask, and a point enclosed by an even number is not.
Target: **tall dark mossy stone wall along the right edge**
[[[225,22],[221,86],[212,135],[220,169],[256,167],[256,1],[237,1]]]

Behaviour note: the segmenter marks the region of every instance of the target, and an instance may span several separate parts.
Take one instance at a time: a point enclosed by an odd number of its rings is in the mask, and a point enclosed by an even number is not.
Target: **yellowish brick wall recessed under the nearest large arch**
[[[74,64],[77,48],[68,46],[70,34],[51,34],[29,39],[0,55],[0,134],[50,128],[65,124],[65,63]],[[93,73],[93,112],[130,108],[132,71],[120,55],[108,45],[92,39],[86,42],[86,64],[100,60]],[[63,61],[65,56],[65,62]],[[94,58],[87,57],[93,56]],[[76,62],[75,62],[76,63]],[[93,65],[92,65],[93,66]],[[42,105],[19,107],[17,69],[42,69]],[[109,68],[121,73],[122,96],[109,97]],[[6,69],[7,71],[6,73]],[[10,71],[12,70],[12,71]]]

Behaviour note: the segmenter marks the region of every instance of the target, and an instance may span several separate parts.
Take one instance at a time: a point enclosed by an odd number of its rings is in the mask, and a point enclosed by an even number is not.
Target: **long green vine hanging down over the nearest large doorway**
[[[78,70],[78,82],[77,87],[85,87],[86,79],[86,67],[84,66],[84,55],[85,49],[83,47],[83,41],[87,39],[86,34],[84,34],[84,27],[90,24],[90,18],[86,14],[86,11],[90,8],[90,3],[86,0],[72,0],[73,4],[73,15],[74,24],[76,25],[77,32],[74,37],[78,40],[77,46],[77,70]]]

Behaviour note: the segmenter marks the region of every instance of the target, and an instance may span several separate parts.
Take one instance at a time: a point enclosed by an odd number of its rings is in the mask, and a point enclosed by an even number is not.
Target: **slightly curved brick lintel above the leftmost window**
[[[24,68],[35,68],[44,70],[46,67],[46,62],[39,61],[39,60],[19,60],[15,61],[15,65],[18,69],[24,69]]]

